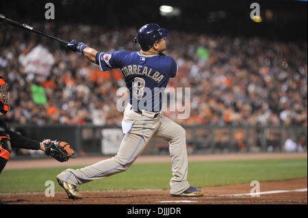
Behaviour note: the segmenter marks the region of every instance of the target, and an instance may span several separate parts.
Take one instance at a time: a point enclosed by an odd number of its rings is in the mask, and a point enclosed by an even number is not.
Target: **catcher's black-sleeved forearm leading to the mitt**
[[[14,148],[25,148],[31,150],[40,150],[40,141],[23,137],[13,131],[8,131],[11,138],[11,146]]]

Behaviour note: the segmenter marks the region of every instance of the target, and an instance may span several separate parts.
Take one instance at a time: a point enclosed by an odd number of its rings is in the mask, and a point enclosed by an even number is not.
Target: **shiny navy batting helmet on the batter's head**
[[[142,51],[148,51],[154,43],[158,42],[167,35],[167,29],[160,28],[156,23],[149,23],[139,29],[134,42],[138,42],[140,44]]]

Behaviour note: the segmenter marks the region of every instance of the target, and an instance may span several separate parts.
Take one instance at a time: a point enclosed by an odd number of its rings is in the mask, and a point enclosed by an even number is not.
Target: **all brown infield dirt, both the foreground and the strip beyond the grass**
[[[81,157],[66,165],[88,165],[108,157]],[[206,154],[190,155],[189,161],[218,161],[239,159],[307,158],[307,153],[266,154]],[[136,163],[168,162],[170,156],[140,156]],[[10,161],[5,169],[57,167],[53,159]],[[1,204],[307,204],[307,178],[273,182],[260,182],[260,195],[253,197],[250,184],[203,188],[203,197],[170,197],[169,191],[99,191],[81,192],[81,200],[69,200],[66,193],[57,192],[55,197],[44,193],[0,194]]]

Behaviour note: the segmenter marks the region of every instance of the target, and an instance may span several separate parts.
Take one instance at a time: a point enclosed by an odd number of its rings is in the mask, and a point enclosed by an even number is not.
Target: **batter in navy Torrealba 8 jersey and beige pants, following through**
[[[69,198],[82,197],[77,191],[77,185],[127,170],[152,137],[169,142],[172,161],[170,194],[176,197],[203,195],[201,190],[192,187],[187,180],[185,129],[162,114],[162,98],[155,100],[159,94],[155,90],[166,87],[169,79],[177,76],[175,59],[162,53],[166,50],[167,35],[167,29],[150,23],[138,31],[134,40],[140,45],[140,51],[99,52],[77,40],[66,45],[70,51],[82,53],[91,62],[98,64],[102,71],[120,68],[129,90],[129,103],[122,120],[125,135],[118,153],[111,159],[81,169],[66,169],[57,175],[57,182]],[[146,107],[142,107],[145,104]]]

